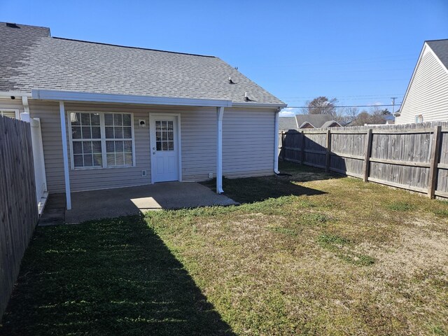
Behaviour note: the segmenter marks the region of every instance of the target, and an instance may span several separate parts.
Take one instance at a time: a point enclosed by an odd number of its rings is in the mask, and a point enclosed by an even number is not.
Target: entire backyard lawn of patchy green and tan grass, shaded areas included
[[[0,335],[447,335],[448,203],[283,165],[239,207],[37,228]]]

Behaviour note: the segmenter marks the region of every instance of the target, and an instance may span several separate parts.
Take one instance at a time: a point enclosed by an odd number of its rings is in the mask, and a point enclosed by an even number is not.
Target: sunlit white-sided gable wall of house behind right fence
[[[448,121],[448,72],[426,48],[409,84],[400,117],[395,118],[396,124],[415,123],[419,115],[424,122]]]

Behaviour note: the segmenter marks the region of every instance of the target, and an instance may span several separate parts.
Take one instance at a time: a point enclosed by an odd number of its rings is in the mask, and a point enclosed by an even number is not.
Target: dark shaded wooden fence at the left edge
[[[0,320],[38,221],[29,123],[0,117]]]

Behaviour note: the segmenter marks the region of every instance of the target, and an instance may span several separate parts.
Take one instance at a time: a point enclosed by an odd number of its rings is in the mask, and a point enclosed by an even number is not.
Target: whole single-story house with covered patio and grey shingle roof
[[[0,23],[0,110],[40,119],[50,193],[277,172],[280,99],[218,57]],[[229,80],[231,78],[231,80]],[[247,98],[246,98],[247,97]]]

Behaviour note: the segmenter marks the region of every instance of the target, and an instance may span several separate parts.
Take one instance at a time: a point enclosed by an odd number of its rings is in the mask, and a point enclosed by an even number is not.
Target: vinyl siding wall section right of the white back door
[[[225,109],[223,176],[274,174],[274,110]],[[182,179],[216,176],[216,109],[181,112]]]

